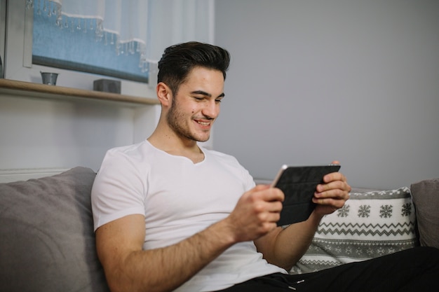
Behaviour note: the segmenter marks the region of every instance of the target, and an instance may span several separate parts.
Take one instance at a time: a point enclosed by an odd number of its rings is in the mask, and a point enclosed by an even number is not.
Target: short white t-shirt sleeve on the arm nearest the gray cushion
[[[144,214],[144,180],[126,153],[107,151],[91,192],[94,229],[132,214]]]

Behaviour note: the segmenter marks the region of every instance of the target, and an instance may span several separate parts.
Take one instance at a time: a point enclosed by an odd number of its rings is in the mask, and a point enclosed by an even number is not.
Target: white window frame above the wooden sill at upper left
[[[156,64],[150,66],[149,83],[32,64],[33,10],[26,9],[26,0],[0,0],[0,5],[6,6],[6,26],[3,26],[6,27],[6,38],[2,55],[4,78],[41,83],[40,71],[52,71],[59,74],[57,85],[60,86],[93,90],[93,81],[106,78],[121,81],[121,93],[124,95],[155,97]]]

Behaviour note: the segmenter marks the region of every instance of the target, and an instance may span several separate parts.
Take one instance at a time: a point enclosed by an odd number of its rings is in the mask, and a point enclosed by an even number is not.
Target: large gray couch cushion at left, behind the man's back
[[[95,172],[0,183],[0,291],[109,291],[95,251]]]

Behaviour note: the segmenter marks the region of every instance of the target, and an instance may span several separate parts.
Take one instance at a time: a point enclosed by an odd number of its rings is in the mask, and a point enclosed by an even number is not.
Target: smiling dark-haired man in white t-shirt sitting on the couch
[[[92,200],[97,252],[110,288],[313,291],[299,289],[330,287],[325,281],[338,277],[348,286],[335,291],[360,291],[365,280],[374,279],[363,277],[365,270],[379,271],[379,263],[327,274],[287,272],[308,248],[320,219],[348,200],[351,188],[343,174],[327,174],[313,197],[313,214],[283,229],[276,227],[281,190],[255,186],[235,158],[197,145],[209,139],[219,115],[228,67],[229,53],[217,46],[167,48],[158,63],[156,130],[139,144],[105,155]]]

